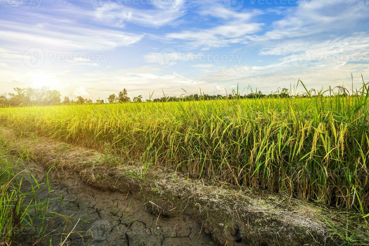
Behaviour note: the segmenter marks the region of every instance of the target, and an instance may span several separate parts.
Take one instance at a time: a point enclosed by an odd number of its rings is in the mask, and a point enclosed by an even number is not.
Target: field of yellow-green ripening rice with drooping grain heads
[[[368,84],[303,96],[0,108],[19,132],[369,211]]]

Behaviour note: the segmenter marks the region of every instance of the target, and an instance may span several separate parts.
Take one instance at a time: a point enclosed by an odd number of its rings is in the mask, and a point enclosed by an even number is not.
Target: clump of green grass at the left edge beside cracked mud
[[[8,155],[7,145],[0,139],[0,245],[11,245],[22,231],[27,230],[35,236],[35,243],[42,243],[50,229],[47,221],[56,214],[48,211],[55,198],[41,199],[38,195],[38,190],[43,187],[47,187],[48,194],[52,192],[48,173],[47,182],[40,183],[25,167],[25,162],[29,162],[27,150],[17,151],[24,159]]]

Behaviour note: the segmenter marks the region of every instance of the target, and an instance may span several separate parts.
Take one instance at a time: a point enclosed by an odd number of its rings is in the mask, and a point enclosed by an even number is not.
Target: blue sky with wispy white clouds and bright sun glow
[[[369,0],[0,0],[0,93],[359,87],[368,21]]]

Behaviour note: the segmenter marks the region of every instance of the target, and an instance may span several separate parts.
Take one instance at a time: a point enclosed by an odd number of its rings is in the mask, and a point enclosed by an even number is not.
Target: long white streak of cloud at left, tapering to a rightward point
[[[65,52],[105,51],[132,45],[143,38],[143,35],[121,31],[67,25],[48,25],[40,28],[13,21],[1,21],[0,27],[0,39],[17,42],[21,44],[18,47],[23,47],[24,51],[32,46]]]

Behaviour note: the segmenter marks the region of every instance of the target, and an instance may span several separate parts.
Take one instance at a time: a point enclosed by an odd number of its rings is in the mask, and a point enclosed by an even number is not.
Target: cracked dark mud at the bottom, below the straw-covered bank
[[[201,231],[201,223],[184,217],[165,218],[149,213],[133,195],[119,192],[101,191],[82,183],[77,177],[51,181],[52,196],[62,196],[64,205],[51,203],[51,210],[71,216],[71,221],[63,228],[65,220],[54,216],[51,224],[60,234],[68,233],[80,218],[65,245],[214,245],[210,236]],[[47,196],[46,188],[39,191],[40,198]],[[62,225],[62,226],[61,226]],[[88,231],[88,233],[87,233]],[[83,237],[81,237],[81,235]],[[93,235],[93,236],[92,236]],[[44,241],[49,244],[49,238]],[[64,236],[52,236],[52,245],[58,245]],[[32,245],[32,233],[28,232],[16,240],[22,245]]]

